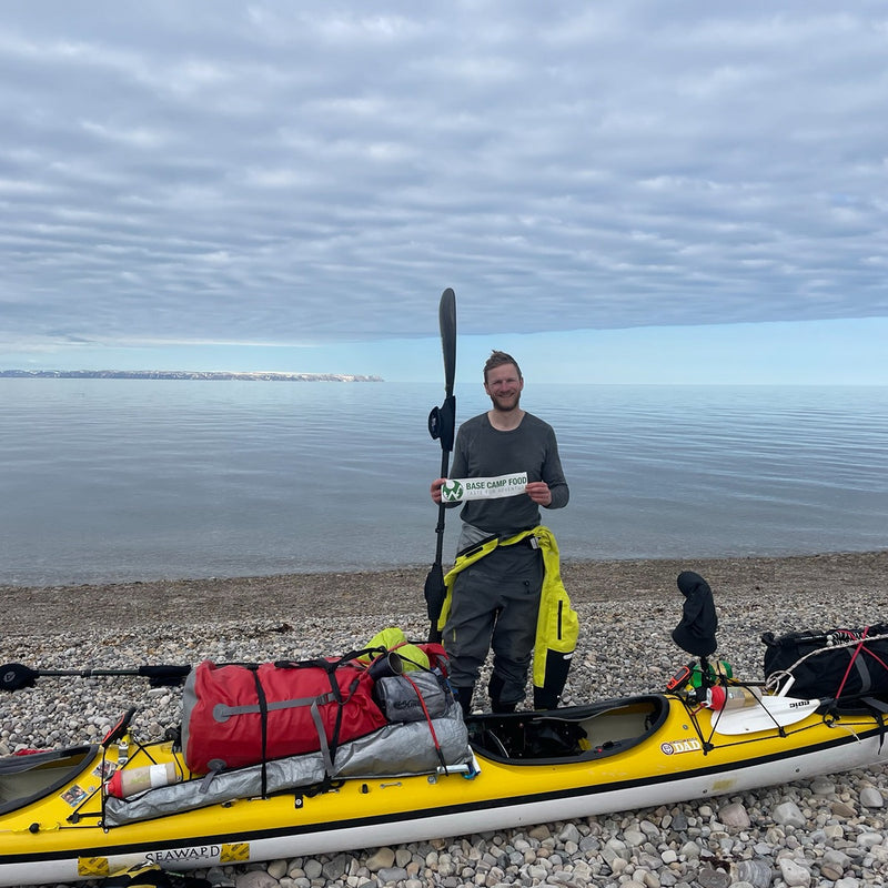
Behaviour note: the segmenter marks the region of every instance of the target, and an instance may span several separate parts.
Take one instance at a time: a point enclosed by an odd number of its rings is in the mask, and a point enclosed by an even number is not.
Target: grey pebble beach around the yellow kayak
[[[581,620],[565,705],[665,687],[688,659],[670,637],[683,604],[675,578],[685,569],[713,587],[717,656],[747,680],[763,678],[764,632],[887,619],[888,551],[562,567]],[[426,572],[0,587],[0,662],[125,669],[303,659],[361,647],[386,626],[422,639]],[[477,693],[476,706],[485,703]],[[179,705],[178,689],[139,678],[42,677],[0,699],[0,751],[99,739],[131,706],[134,733],[149,739],[178,723]],[[888,877],[886,818],[888,779],[876,766],[608,817],[195,875],[236,888],[861,888]]]

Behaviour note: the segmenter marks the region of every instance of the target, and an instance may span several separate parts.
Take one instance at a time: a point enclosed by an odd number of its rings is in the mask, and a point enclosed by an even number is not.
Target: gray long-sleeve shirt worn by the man
[[[552,426],[525,413],[517,428],[501,432],[491,425],[486,413],[466,420],[456,434],[452,478],[497,477],[526,472],[527,481],[545,481],[552,491],[548,508],[567,505],[569,490],[562,470],[558,443]],[[536,527],[539,507],[527,494],[500,500],[468,500],[460,517],[490,536],[512,536]],[[465,534],[464,534],[465,537]],[[461,541],[460,548],[465,539]]]

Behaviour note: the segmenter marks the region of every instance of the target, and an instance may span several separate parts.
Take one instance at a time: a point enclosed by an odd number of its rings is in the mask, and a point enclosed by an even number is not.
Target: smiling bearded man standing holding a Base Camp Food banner
[[[451,478],[483,481],[457,485],[437,478],[431,488],[432,500],[438,504],[442,495],[447,503],[452,487],[467,497],[466,491],[478,495],[465,498],[460,515],[460,555],[451,573],[460,569],[448,587],[450,609],[443,630],[451,685],[464,712],[470,710],[475,682],[491,648],[493,712],[514,712],[524,699],[545,576],[538,539],[527,532],[545,531],[538,527],[541,506],[563,508],[569,496],[555,432],[522,410],[523,390],[524,377],[515,359],[494,351],[484,365],[491,410],[462,424],[451,467]],[[480,553],[485,541],[492,548]],[[478,554],[483,557],[473,557]],[[557,548],[555,556],[557,559]],[[461,558],[467,562],[465,567],[460,566]]]

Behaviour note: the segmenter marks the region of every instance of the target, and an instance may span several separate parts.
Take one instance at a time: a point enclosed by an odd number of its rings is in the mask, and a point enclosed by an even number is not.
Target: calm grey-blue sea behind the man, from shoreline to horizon
[[[0,583],[434,559],[443,386],[0,380]],[[458,386],[457,421],[486,407]],[[539,385],[563,557],[888,547],[888,389]],[[447,513],[445,562],[458,518]]]

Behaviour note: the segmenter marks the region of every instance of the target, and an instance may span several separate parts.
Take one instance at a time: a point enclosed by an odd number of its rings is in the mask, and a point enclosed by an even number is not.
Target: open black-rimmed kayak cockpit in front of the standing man
[[[487,758],[516,765],[587,761],[622,753],[656,731],[669,713],[660,694],[535,713],[470,716],[468,740]]]

